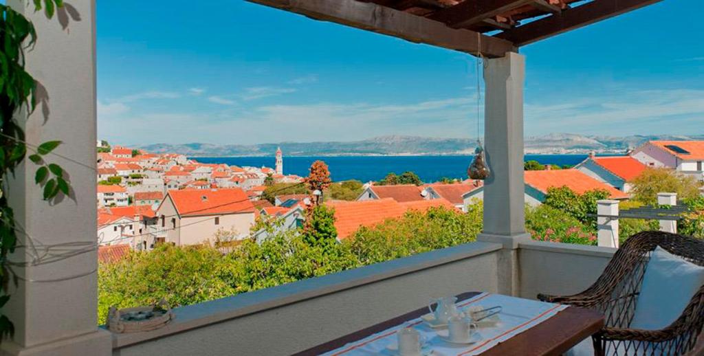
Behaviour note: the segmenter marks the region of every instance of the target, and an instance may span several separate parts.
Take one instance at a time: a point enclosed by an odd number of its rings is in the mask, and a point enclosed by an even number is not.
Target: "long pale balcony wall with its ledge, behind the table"
[[[113,355],[290,355],[427,305],[497,291],[500,244],[469,243],[180,307],[172,324],[113,335]]]

